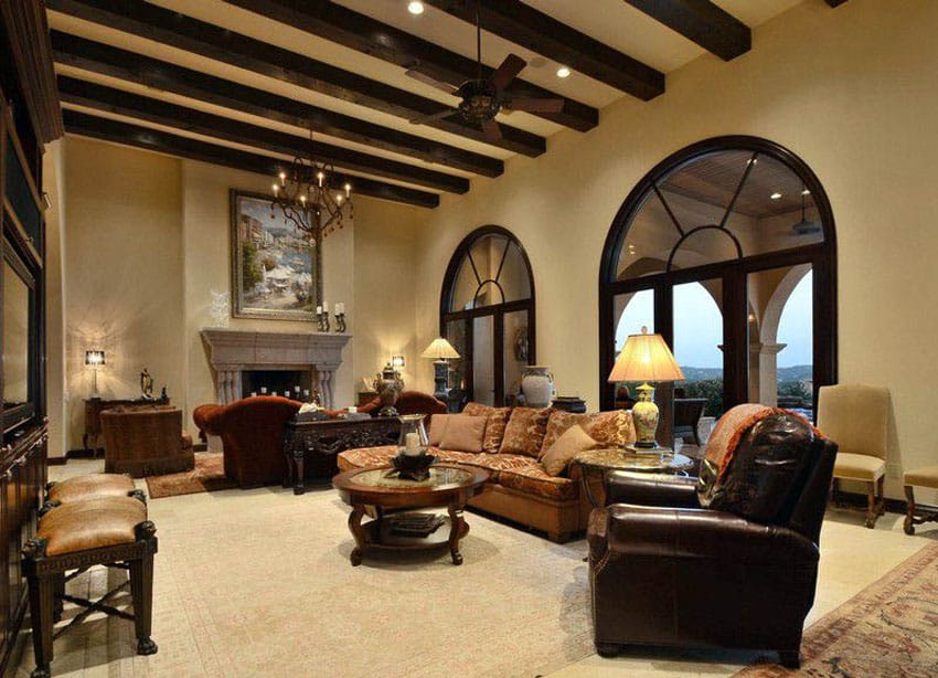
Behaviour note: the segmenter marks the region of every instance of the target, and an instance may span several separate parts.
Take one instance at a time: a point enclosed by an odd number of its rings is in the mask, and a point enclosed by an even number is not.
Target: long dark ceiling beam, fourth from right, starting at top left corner
[[[430,98],[392,87],[351,71],[337,68],[270,43],[225,30],[143,0],[46,0],[49,9],[92,21],[206,59],[274,77],[327,96],[366,106],[404,119],[444,110]],[[488,139],[482,128],[459,115],[425,123],[441,131],[537,157],[547,146],[543,137],[500,124],[501,138]]]

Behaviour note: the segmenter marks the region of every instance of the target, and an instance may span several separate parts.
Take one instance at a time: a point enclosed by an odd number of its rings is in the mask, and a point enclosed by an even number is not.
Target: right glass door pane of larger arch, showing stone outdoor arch
[[[750,273],[749,401],[813,416],[813,276],[810,264]]]

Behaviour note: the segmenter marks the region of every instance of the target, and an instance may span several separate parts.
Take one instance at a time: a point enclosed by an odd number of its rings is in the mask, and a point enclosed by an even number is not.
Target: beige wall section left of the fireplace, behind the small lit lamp
[[[102,398],[183,392],[182,190],[178,160],[68,138],[64,153],[65,328],[70,445],[81,446],[92,373],[84,351],[107,351]]]

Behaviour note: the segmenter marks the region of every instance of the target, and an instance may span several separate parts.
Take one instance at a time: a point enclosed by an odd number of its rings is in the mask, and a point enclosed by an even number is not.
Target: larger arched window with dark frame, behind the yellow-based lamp
[[[705,414],[760,402],[811,415],[836,377],[834,221],[823,187],[791,151],[755,137],[695,144],[626,199],[599,277],[600,393],[629,333],[671,346],[686,398]]]

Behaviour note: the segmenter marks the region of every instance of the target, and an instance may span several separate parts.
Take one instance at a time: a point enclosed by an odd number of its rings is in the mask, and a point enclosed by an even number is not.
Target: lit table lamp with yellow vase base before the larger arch
[[[636,447],[654,448],[658,443],[658,405],[654,404],[654,386],[650,381],[682,381],[684,373],[674,360],[671,349],[661,335],[649,335],[642,327],[640,335],[629,335],[626,346],[609,373],[608,381],[641,381],[638,389],[638,402],[632,405],[632,421],[636,425]]]

